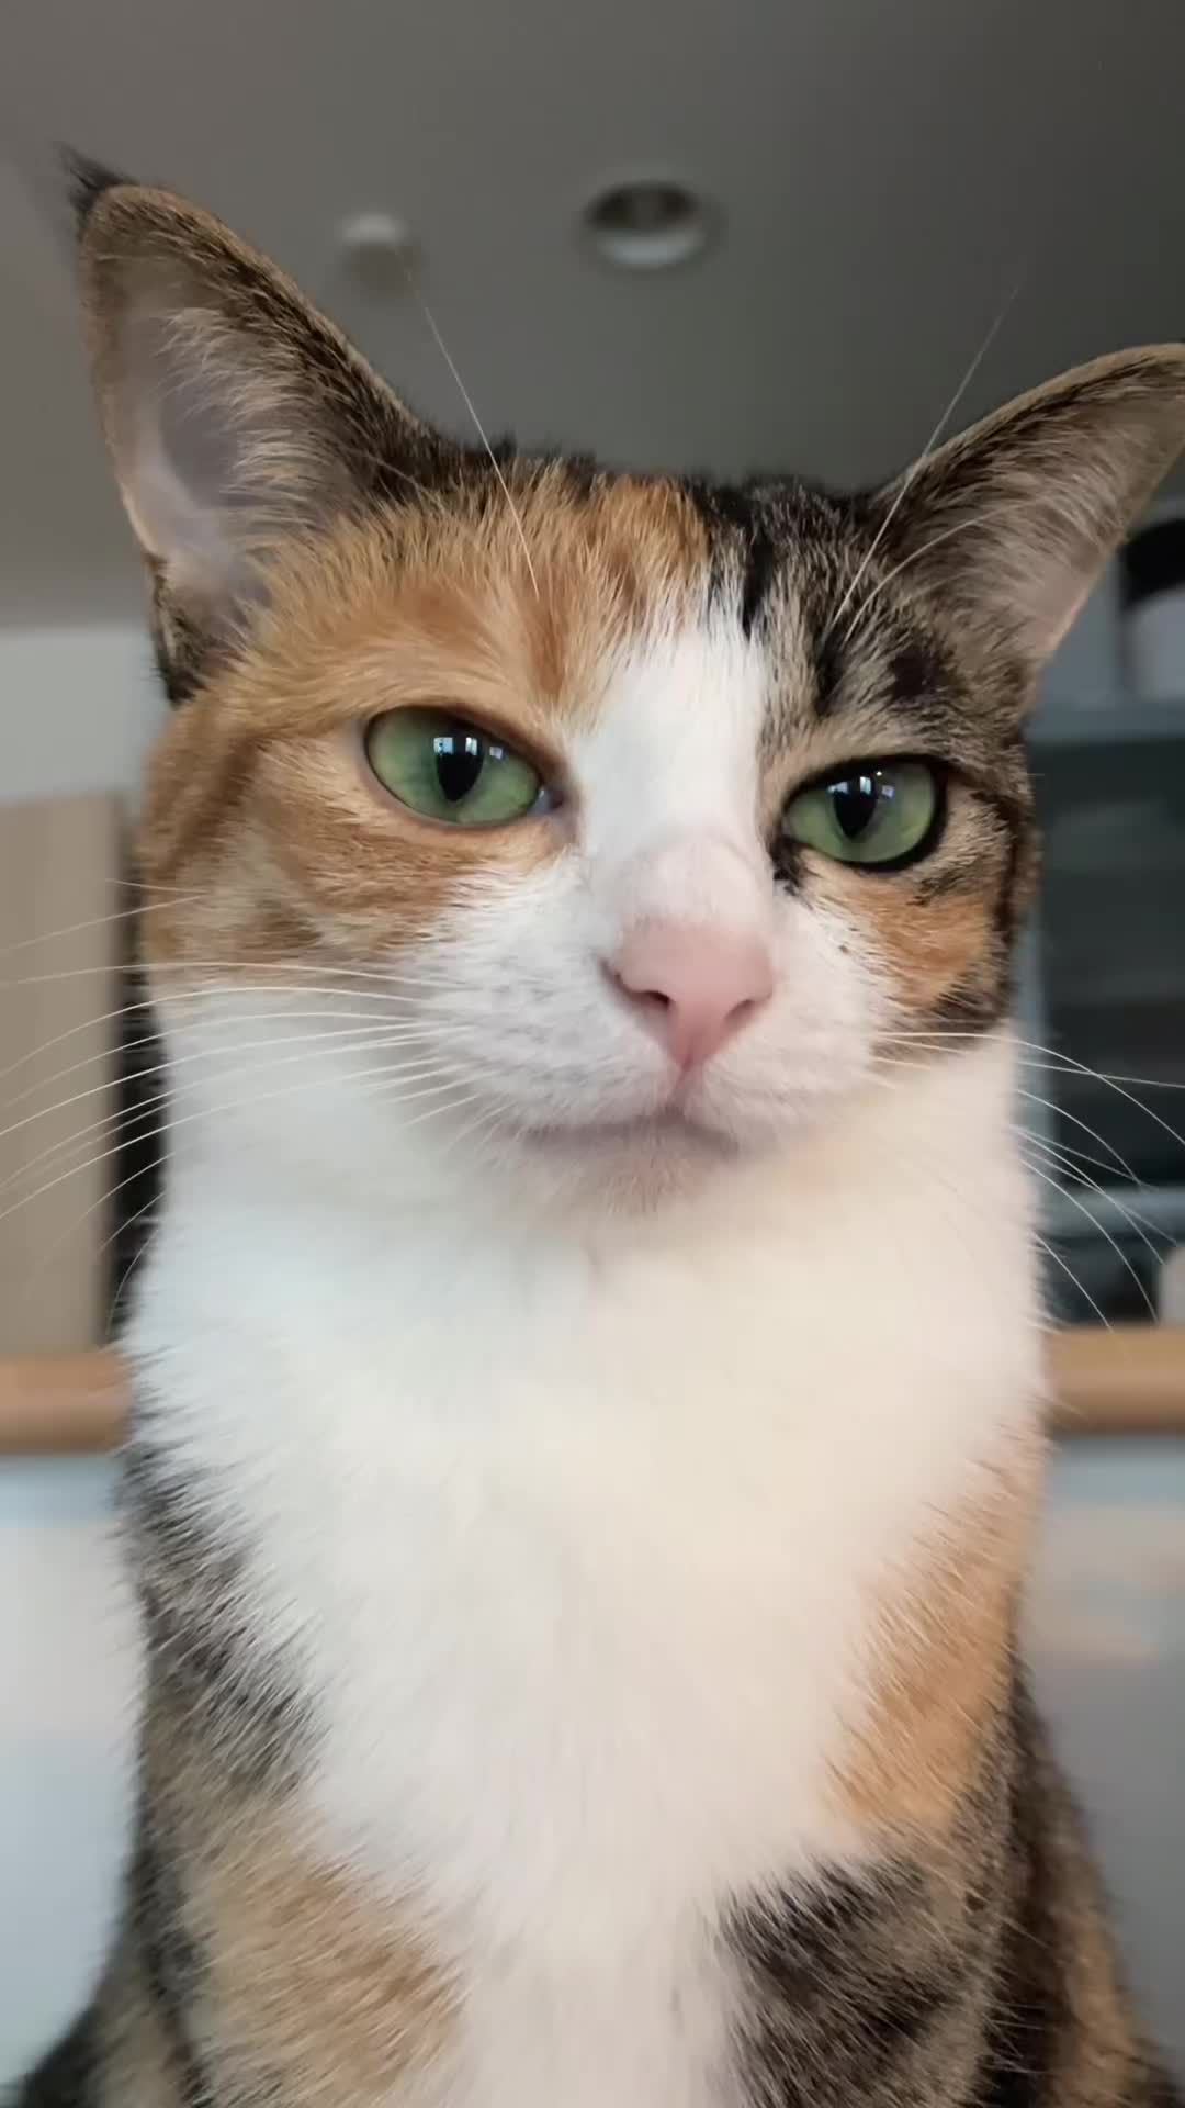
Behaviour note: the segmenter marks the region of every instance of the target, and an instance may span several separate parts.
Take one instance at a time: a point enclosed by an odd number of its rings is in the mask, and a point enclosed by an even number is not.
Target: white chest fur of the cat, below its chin
[[[951,1094],[597,1250],[181,1172],[133,1351],[316,1705],[312,1834],[462,1969],[426,2102],[727,2102],[713,1920],[860,1855],[886,1566],[1035,1393],[1023,1187]]]

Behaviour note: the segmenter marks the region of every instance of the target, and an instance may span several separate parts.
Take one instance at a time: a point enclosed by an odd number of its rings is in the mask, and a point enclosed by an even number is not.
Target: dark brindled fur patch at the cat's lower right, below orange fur
[[[742,2097],[751,2108],[1077,2108],[1065,2072],[1073,2057],[1090,2068],[1090,2017],[1067,1986],[1080,1912],[1094,1908],[1082,1863],[1016,1672],[957,1832],[932,1859],[833,1874],[734,1916]],[[1111,2055],[1111,2041],[1101,2049]],[[1099,2093],[1099,2108],[1177,2108],[1134,2036],[1130,2091]]]

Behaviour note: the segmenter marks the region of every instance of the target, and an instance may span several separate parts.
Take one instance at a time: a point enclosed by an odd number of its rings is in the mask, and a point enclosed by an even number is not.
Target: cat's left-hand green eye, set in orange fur
[[[380,784],[426,820],[508,826],[546,803],[542,776],[523,755],[447,710],[375,717],[367,761]]]

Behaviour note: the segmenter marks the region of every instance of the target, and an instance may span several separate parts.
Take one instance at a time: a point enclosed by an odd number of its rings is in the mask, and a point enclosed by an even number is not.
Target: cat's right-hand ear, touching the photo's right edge
[[[926,455],[873,521],[902,584],[1033,677],[1183,447],[1185,348],[1122,352]]]

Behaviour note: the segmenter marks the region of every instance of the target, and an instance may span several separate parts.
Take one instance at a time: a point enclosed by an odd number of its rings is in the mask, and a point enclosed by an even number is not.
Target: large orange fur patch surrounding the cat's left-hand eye
[[[595,717],[614,658],[702,590],[704,529],[675,485],[620,479],[574,497],[542,470],[514,506],[531,567],[510,508],[464,502],[348,525],[285,559],[249,649],[156,753],[143,879],[198,898],[150,919],[150,959],[234,972],[323,942],[386,953],[477,873],[563,852],[563,814],[434,826],[361,757],[369,719],[434,704],[563,780],[563,725]]]

